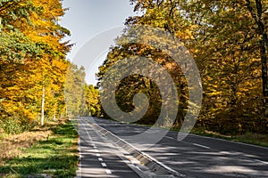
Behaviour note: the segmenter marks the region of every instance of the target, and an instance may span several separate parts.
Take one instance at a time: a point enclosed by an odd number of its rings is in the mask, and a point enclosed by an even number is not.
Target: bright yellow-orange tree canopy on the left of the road
[[[71,44],[63,37],[70,31],[58,23],[65,11],[60,0],[0,1],[0,123],[6,132],[38,123],[42,96],[46,117],[65,111]]]

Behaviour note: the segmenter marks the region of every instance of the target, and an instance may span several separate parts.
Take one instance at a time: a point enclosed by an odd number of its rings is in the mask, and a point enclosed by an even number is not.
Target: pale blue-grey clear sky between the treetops
[[[74,57],[84,44],[108,29],[123,26],[129,16],[135,15],[128,0],[63,0],[63,7],[70,8],[60,24],[71,31],[68,39],[75,45],[67,58],[74,63],[77,63]],[[105,43],[111,45],[109,40]],[[96,84],[95,73],[105,60],[105,53],[99,53],[98,58],[97,61],[90,59],[95,61],[94,66],[86,69],[88,84]]]

